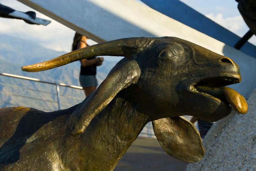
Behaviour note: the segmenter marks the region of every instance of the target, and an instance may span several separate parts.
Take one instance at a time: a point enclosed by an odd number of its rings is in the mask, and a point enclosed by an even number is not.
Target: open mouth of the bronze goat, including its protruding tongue
[[[191,91],[200,93],[209,98],[217,98],[228,103],[237,112],[245,114],[247,112],[248,105],[244,97],[232,88],[225,87],[226,85],[236,84],[240,81],[241,78],[238,76],[206,78],[199,81],[194,86],[191,86]]]

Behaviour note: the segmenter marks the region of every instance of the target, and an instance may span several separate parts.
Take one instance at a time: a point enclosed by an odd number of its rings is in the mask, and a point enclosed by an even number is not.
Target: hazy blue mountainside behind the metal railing
[[[46,61],[65,53],[67,52],[44,48],[36,42],[0,34],[0,72],[79,85],[79,62],[36,73],[21,71],[21,66]],[[115,64],[116,62],[105,60],[103,65],[98,67],[99,83],[105,79]],[[0,108],[21,105],[56,110],[58,105],[55,88],[53,85],[0,76]],[[81,90],[60,87],[60,93],[62,108],[68,108],[84,99]]]

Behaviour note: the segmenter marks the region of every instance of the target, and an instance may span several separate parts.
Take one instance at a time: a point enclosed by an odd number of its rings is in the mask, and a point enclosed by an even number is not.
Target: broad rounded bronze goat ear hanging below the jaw
[[[156,138],[170,156],[194,163],[204,157],[204,147],[196,127],[184,117],[158,119],[152,122]]]

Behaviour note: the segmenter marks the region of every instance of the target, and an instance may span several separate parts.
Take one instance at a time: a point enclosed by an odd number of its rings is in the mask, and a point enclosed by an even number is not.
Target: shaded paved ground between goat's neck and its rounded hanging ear
[[[137,138],[114,171],[184,171],[186,166],[164,152],[156,138]]]

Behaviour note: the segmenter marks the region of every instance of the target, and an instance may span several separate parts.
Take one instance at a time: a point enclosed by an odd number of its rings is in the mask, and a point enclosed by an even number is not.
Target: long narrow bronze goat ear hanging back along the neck
[[[129,85],[135,84],[139,77],[140,67],[136,61],[128,61],[117,66],[68,119],[67,124],[72,130],[72,134],[83,133],[92,119],[114,99],[116,94]]]

